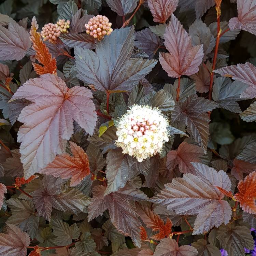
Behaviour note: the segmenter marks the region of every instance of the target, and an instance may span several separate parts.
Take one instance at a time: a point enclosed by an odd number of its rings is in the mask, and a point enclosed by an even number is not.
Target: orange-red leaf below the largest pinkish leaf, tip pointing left
[[[40,173],[69,179],[71,177],[70,186],[78,185],[85,176],[90,174],[89,159],[83,148],[70,142],[70,148],[73,156],[63,153],[57,155],[55,159],[49,163]]]

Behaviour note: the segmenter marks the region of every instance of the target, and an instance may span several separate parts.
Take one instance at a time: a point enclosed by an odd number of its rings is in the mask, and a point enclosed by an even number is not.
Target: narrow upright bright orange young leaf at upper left
[[[44,44],[41,38],[41,34],[37,32],[37,29],[37,20],[35,19],[35,17],[33,17],[30,29],[30,40],[32,42],[32,47],[35,50],[35,58],[43,65],[42,66],[38,63],[32,63],[34,70],[39,75],[47,73],[56,74],[56,59],[52,58],[48,47]]]

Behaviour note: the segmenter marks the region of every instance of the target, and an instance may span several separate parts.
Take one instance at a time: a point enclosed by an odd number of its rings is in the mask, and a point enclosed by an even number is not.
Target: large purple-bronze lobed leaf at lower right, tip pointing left
[[[166,205],[176,214],[197,214],[193,234],[201,234],[229,223],[231,207],[222,200],[224,194],[216,186],[230,190],[231,182],[223,170],[217,172],[201,163],[193,163],[193,166],[195,175],[185,173],[183,178],[174,178],[150,201]]]

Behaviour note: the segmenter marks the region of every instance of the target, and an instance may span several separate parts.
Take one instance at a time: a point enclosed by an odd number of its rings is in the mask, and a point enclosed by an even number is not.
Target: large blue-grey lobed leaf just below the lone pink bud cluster
[[[74,48],[77,78],[97,90],[131,90],[156,65],[156,60],[130,59],[133,28],[115,29],[96,45],[96,53]],[[116,44],[118,40],[118,44]]]

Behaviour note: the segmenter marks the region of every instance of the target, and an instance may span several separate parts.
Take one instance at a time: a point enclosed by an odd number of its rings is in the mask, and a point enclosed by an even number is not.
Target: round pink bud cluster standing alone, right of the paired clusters
[[[97,38],[98,41],[104,38],[104,35],[110,35],[113,29],[111,28],[112,23],[106,16],[97,15],[89,19],[88,24],[84,25],[86,33],[92,37]]]

